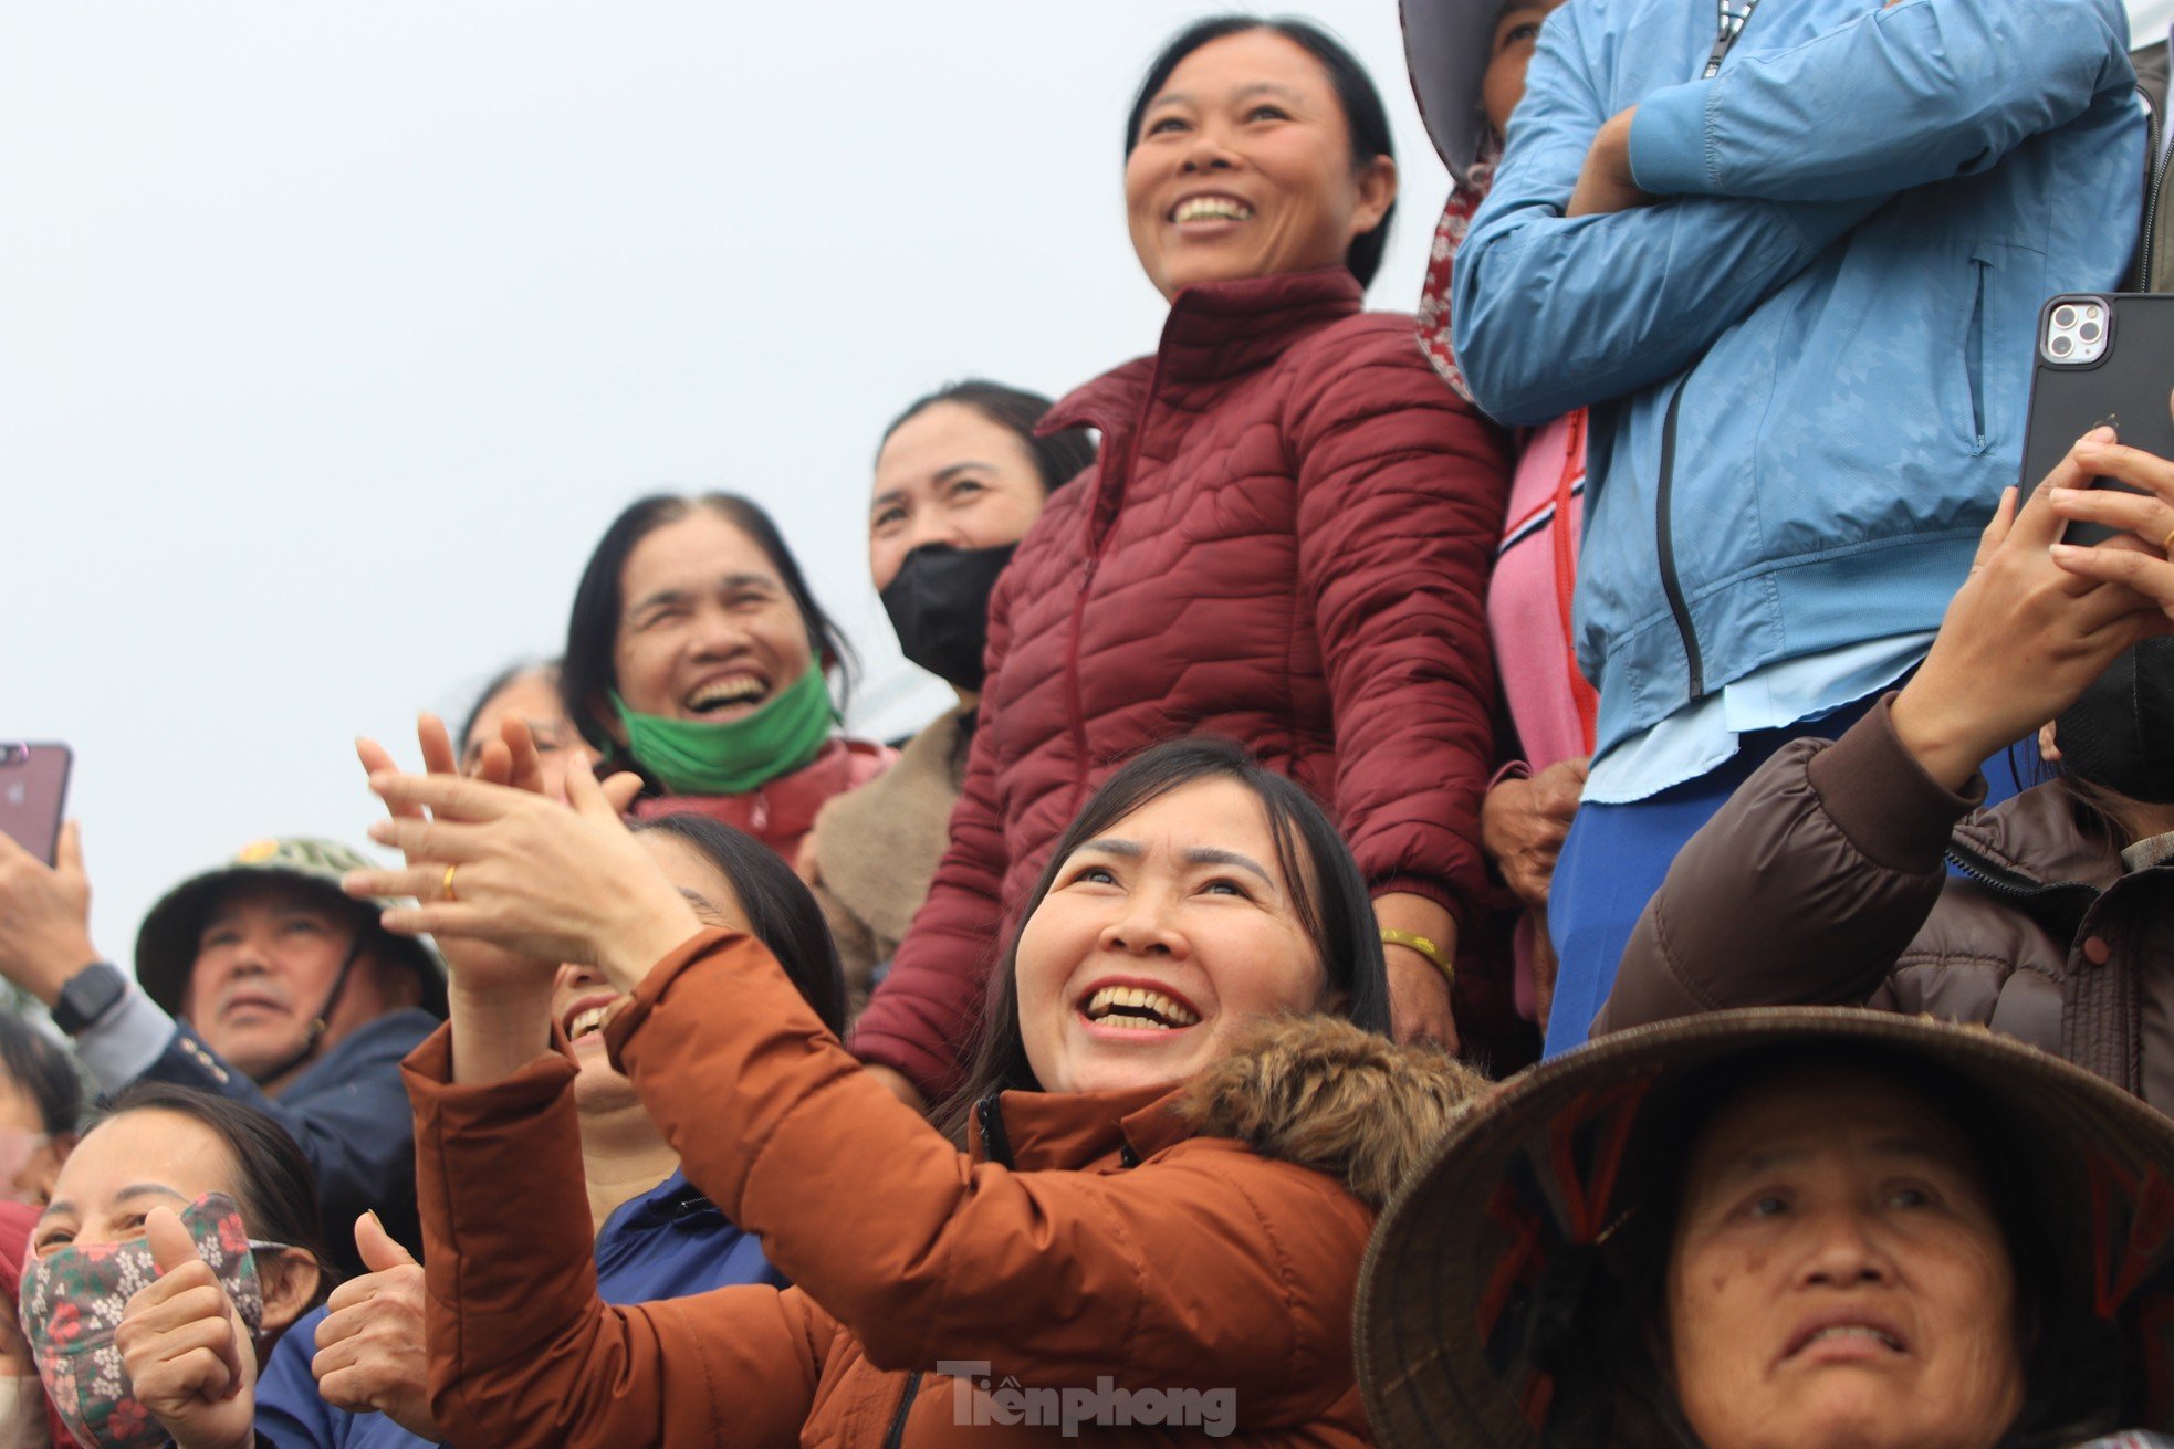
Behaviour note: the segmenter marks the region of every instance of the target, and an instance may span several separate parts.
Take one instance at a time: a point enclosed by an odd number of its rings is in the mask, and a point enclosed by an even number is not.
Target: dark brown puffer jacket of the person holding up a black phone
[[[1865,1004],[1989,1025],[2174,1112],[2174,865],[2124,873],[2054,784],[1974,810],[1985,782],[1926,776],[1891,702],[1783,747],[1691,839],[1594,1036]]]

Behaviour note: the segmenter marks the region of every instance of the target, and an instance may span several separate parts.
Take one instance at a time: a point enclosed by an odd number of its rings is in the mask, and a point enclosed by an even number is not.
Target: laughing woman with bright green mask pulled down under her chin
[[[787,860],[815,810],[891,763],[837,732],[852,650],[776,524],[735,493],[630,504],[574,593],[559,689],[648,819],[696,810]]]

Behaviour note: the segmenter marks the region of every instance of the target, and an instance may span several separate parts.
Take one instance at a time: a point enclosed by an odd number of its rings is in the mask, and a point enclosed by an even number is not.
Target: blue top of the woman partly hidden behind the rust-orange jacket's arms
[[[785,1286],[763,1243],[702,1197],[683,1173],[620,1206],[596,1238],[596,1290],[607,1303],[648,1303],[741,1284]],[[276,1449],[428,1449],[385,1414],[324,1401],[309,1360],[324,1310],[289,1327],[257,1382],[257,1432]]]

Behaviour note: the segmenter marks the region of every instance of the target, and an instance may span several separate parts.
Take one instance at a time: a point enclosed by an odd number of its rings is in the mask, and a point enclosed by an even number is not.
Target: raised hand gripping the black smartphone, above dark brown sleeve
[[[2059,556],[2067,519],[2057,500],[2091,476],[2087,461],[2111,443],[2111,428],[2094,428],[2028,502],[2017,506],[2015,489],[2000,497],[1933,652],[1894,704],[1896,734],[1950,791],[2061,715],[2122,650],[2167,632],[2154,600]],[[2137,547],[2111,539],[2067,552],[2104,558]]]

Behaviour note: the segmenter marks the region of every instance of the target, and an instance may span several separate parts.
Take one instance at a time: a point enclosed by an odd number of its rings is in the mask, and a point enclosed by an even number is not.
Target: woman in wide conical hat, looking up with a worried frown
[[[1848,1008],[1624,1032],[1467,1114],[1383,1217],[1367,1416],[1387,1449],[2167,1429],[2170,1210],[2174,1121],[1991,1032]]]

